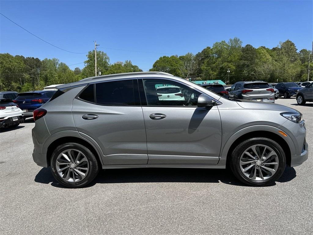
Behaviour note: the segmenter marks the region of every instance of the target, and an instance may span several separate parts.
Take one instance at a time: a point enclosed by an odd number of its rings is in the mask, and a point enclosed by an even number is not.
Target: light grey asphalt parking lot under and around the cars
[[[313,105],[302,112],[313,145]],[[32,159],[31,119],[0,133],[0,234],[310,234],[313,154],[275,185],[242,185],[228,170],[101,171],[82,189],[59,185]]]

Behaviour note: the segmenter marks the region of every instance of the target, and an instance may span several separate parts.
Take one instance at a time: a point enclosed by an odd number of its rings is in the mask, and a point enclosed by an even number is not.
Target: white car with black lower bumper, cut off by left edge
[[[24,113],[9,99],[0,99],[0,128],[17,127],[24,122]]]

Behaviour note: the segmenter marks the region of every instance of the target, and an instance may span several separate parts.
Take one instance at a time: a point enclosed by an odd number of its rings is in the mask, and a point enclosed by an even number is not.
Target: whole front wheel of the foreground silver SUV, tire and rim
[[[234,175],[245,184],[269,185],[284,173],[285,152],[272,139],[250,138],[233,150],[230,166]]]

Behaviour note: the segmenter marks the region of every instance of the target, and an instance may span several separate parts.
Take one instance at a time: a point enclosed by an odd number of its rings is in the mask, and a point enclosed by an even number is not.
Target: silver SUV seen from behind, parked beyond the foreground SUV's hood
[[[229,99],[275,103],[275,90],[264,81],[239,81],[230,88]]]

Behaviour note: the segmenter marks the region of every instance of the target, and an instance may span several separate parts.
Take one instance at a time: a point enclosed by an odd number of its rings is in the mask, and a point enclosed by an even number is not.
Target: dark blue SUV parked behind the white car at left
[[[30,91],[19,93],[13,101],[24,112],[24,118],[33,117],[33,111],[47,102],[56,91]]]

